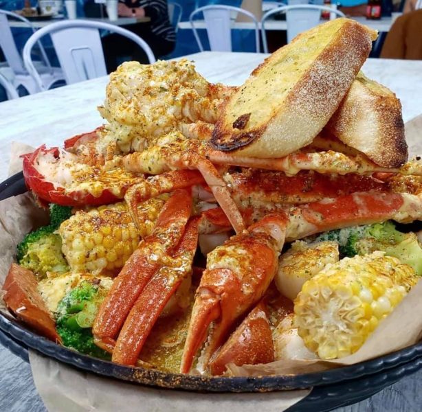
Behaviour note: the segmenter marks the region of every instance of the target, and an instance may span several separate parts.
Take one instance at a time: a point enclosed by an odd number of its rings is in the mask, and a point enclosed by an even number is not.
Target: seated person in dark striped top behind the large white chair
[[[87,11],[86,5],[85,11]],[[146,41],[153,50],[155,58],[166,56],[175,49],[176,34],[168,19],[167,0],[119,0],[118,14],[121,17],[146,16],[151,19],[148,23],[126,25],[124,28]],[[108,34],[102,37],[102,48],[109,73],[115,71],[124,60],[148,63],[144,51],[120,34]]]

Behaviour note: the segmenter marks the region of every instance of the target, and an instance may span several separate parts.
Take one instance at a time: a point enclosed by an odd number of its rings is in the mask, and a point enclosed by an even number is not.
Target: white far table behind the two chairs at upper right
[[[379,32],[388,32],[392,26],[393,20],[391,17],[382,17],[379,20],[368,20],[366,17],[351,17],[351,19],[359,21],[368,27],[378,30]],[[321,21],[322,23],[324,21]],[[192,26],[189,21],[181,21],[178,25],[179,29],[190,29]],[[195,27],[197,29],[206,29],[206,23],[203,20],[195,21]],[[249,23],[247,21],[232,21],[232,29],[241,29],[241,30],[254,30],[254,23]],[[287,30],[287,22],[285,20],[267,20],[265,22],[265,30]]]

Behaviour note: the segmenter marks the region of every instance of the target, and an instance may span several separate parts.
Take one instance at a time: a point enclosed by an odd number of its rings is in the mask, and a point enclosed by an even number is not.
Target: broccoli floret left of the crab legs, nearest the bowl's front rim
[[[110,359],[110,354],[93,343],[93,321],[107,290],[100,284],[84,281],[72,289],[57,306],[56,330],[63,345],[82,354]]]

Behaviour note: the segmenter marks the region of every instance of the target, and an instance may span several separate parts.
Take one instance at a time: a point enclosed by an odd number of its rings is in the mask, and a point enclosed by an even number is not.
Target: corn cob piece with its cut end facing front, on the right
[[[417,280],[410,266],[382,252],[329,264],[294,302],[298,334],[322,359],[353,354]]]

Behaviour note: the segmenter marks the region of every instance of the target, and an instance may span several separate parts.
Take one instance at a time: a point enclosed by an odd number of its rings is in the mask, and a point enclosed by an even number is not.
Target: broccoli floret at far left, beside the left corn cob
[[[71,207],[51,204],[49,209],[50,224],[28,233],[16,248],[17,262],[41,278],[47,272],[69,270],[62,253],[62,240],[54,231],[71,216]]]

